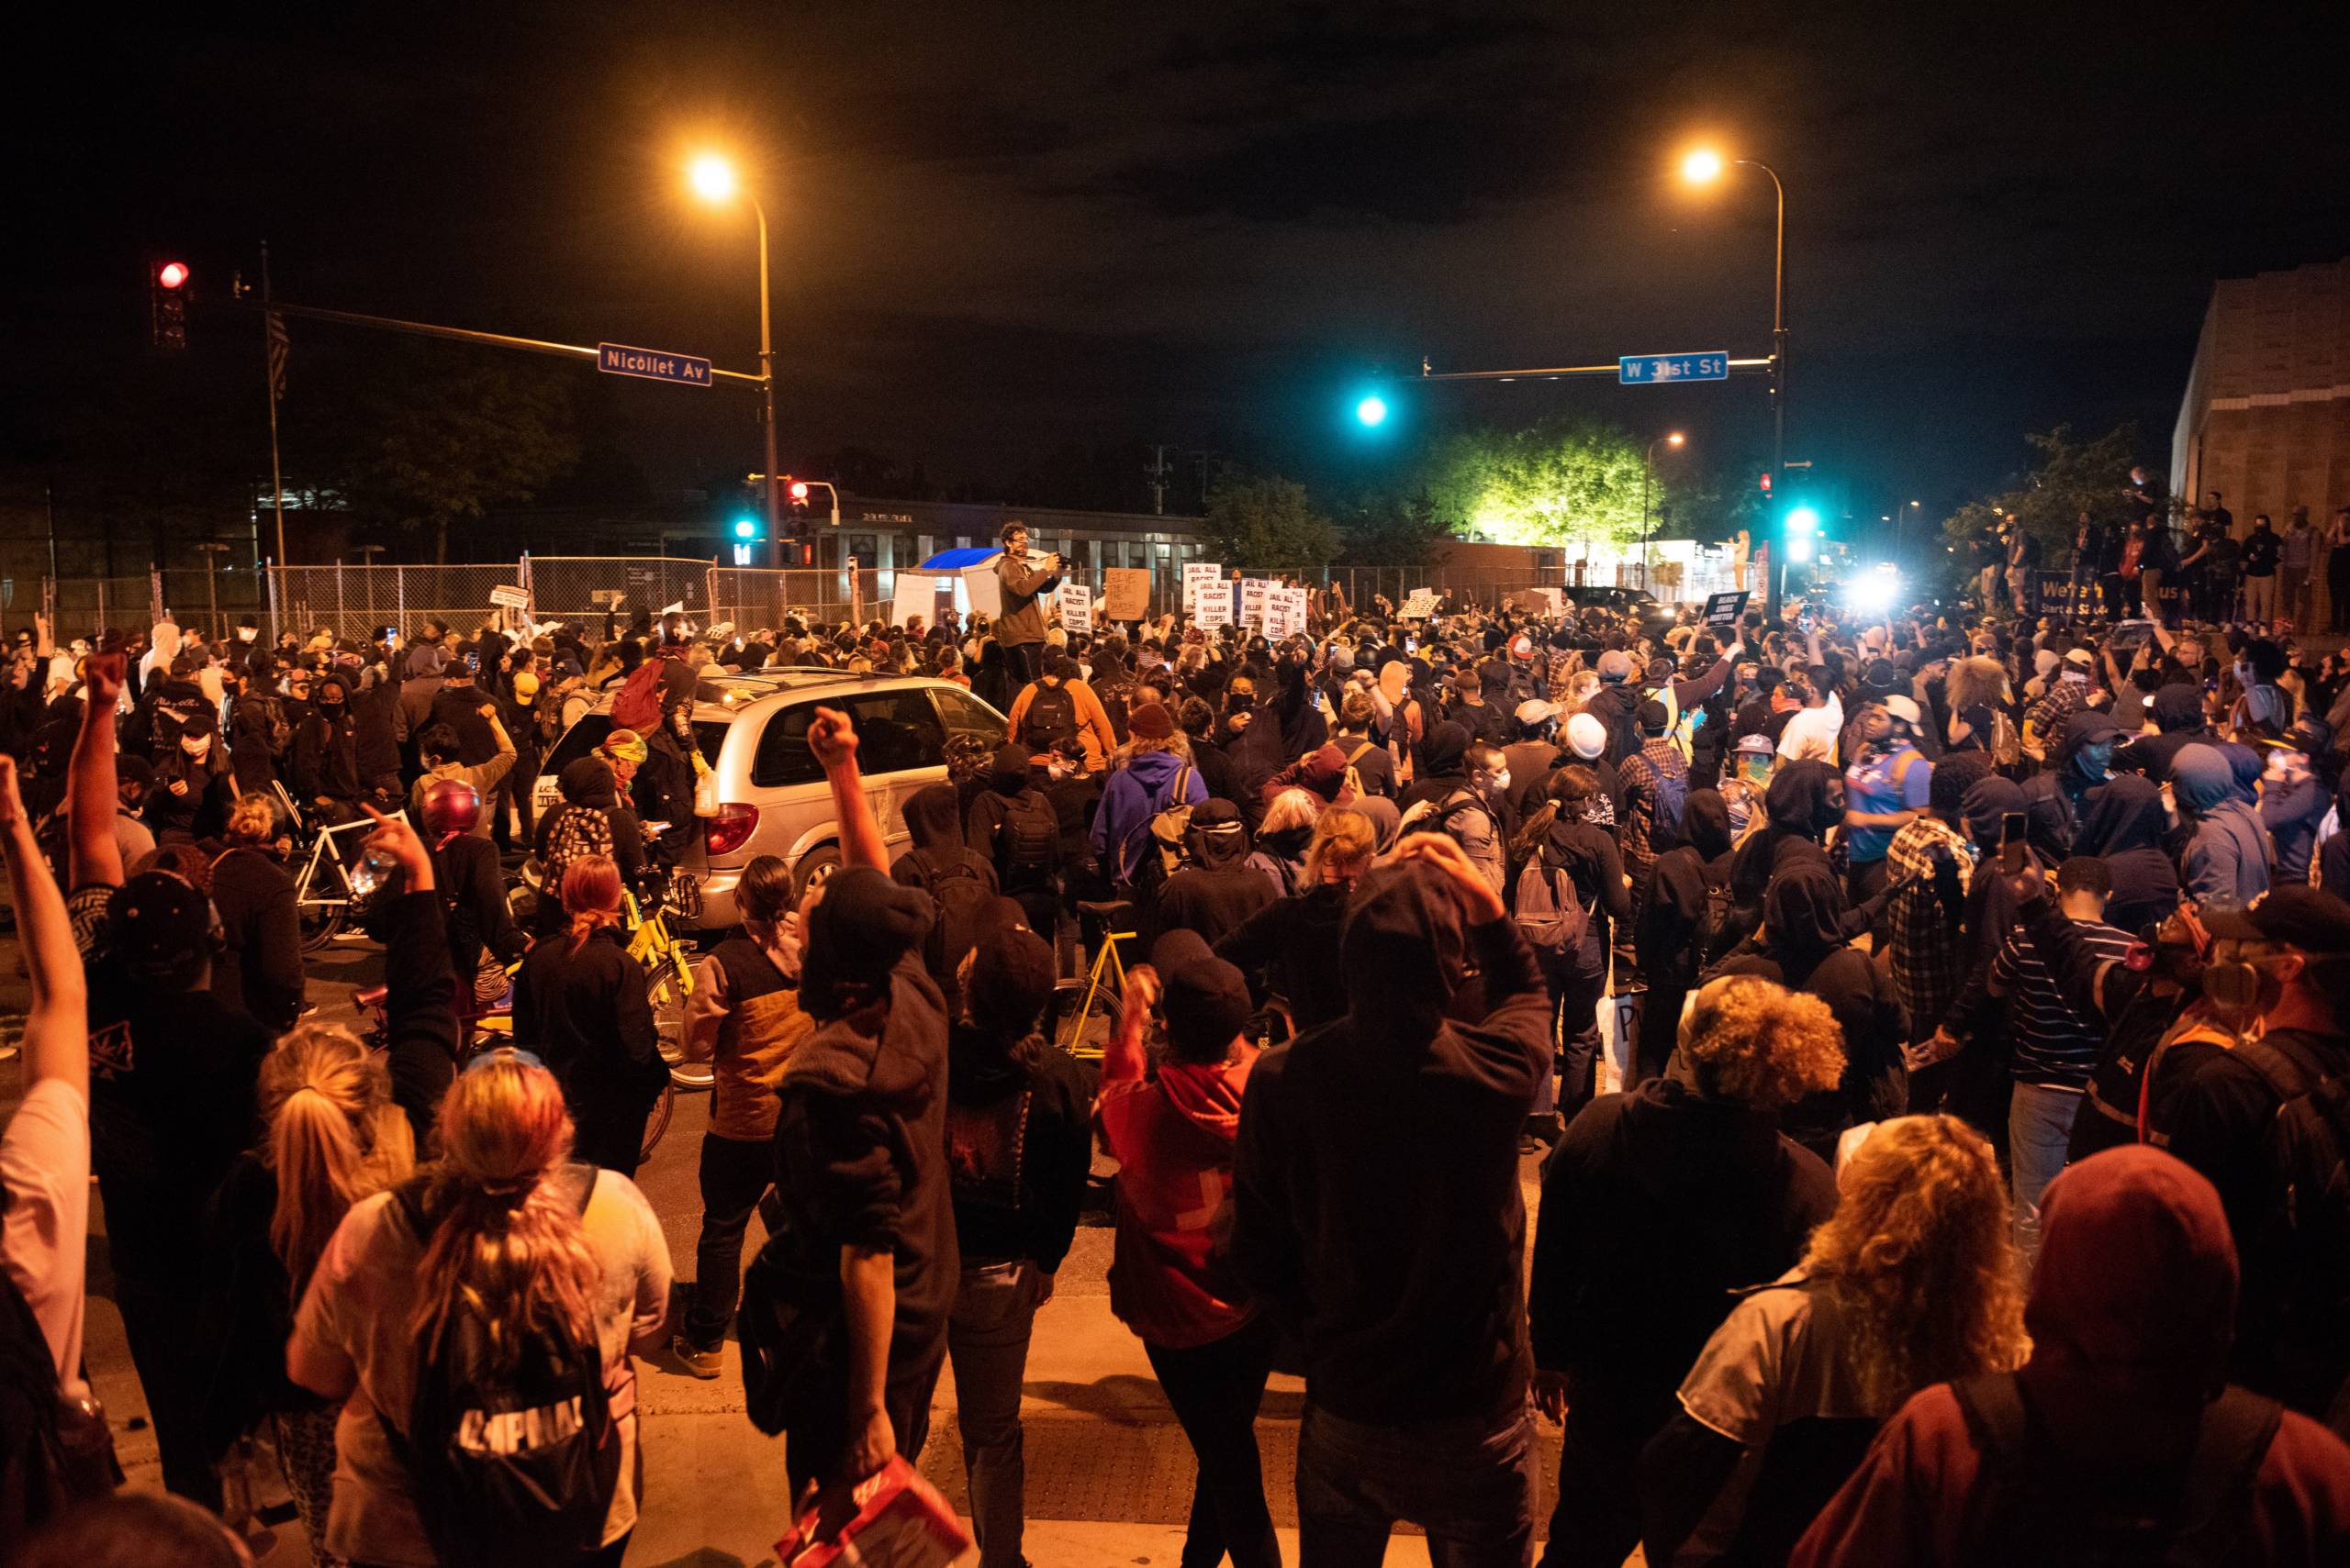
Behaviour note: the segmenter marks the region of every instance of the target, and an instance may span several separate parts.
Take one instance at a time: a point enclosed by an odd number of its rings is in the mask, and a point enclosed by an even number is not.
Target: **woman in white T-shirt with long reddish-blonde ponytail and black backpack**
[[[637,1183],[576,1164],[571,1134],[555,1075],[526,1052],[489,1052],[442,1096],[439,1160],[352,1204],[320,1256],[287,1376],[341,1404],[329,1552],[383,1568],[620,1561],[642,1491],[630,1352],[663,1343],[670,1246]],[[526,1519],[423,1507],[425,1467],[451,1460],[418,1444],[454,1434],[416,1415],[468,1387],[515,1387],[540,1357],[569,1371],[576,1354],[602,1378],[557,1392],[573,1420],[517,1422],[526,1437],[501,1458],[531,1476],[580,1458],[588,1495],[548,1493]]]

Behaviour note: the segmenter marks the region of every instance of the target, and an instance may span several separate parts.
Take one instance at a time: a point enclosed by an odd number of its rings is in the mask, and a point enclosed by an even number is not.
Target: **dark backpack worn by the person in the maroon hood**
[[[1950,1385],[1983,1455],[1967,1500],[1962,1563],[2066,1568],[2216,1568],[2251,1521],[2251,1486],[2284,1406],[2242,1387],[2204,1406],[2178,1474],[2134,1493],[2099,1486],[2047,1437],[2016,1373]],[[2096,1455],[2084,1455],[2094,1462]]]

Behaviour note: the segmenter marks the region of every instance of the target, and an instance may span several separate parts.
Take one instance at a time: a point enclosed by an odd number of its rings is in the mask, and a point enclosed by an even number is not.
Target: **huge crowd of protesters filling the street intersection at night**
[[[2350,667],[2265,589],[2178,603],[2141,549],[2143,599],[2040,613],[2007,549],[1913,615],[1316,594],[1285,638],[1072,634],[1060,561],[1003,542],[1001,613],[938,627],[19,648],[7,1545],[235,1549],[110,1495],[94,1171],[169,1507],[266,1430],[322,1563],[620,1561],[684,1507],[644,1495],[639,1359],[721,1378],[733,1333],[794,1495],[919,1460],[952,1361],[980,1563],[1018,1568],[1090,1204],[1196,1455],[1184,1568],[1281,1561],[1276,1368],[1309,1566],[1398,1523],[1464,1566],[2350,1561]],[[778,664],[954,681],[1008,737],[893,850],[848,718],[811,723],[841,869],[794,904],[752,861],[700,958],[672,1312],[616,920],[644,824],[691,819],[700,671]],[[371,817],[395,873],[376,1042],[303,1021],[287,807]],[[1116,932],[1081,1061],[1062,998]],[[515,1045],[475,1049],[515,958]]]

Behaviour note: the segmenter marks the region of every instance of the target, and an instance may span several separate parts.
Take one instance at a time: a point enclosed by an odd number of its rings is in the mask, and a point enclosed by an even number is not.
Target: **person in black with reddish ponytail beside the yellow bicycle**
[[[583,854],[564,869],[562,894],[564,932],[533,946],[515,976],[515,1045],[538,1052],[564,1084],[580,1157],[634,1176],[670,1068],[644,967],[620,930],[620,869]]]

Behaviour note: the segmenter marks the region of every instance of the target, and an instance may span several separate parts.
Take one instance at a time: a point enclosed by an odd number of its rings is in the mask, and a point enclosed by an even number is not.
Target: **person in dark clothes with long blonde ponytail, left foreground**
[[[331,1404],[287,1383],[284,1343],[320,1253],[355,1202],[407,1181],[409,1120],[381,1059],[345,1028],[306,1026],[261,1059],[258,1148],[228,1169],[204,1223],[207,1282],[193,1340],[204,1439],[219,1458],[263,1418],[322,1568],[334,1495]]]

